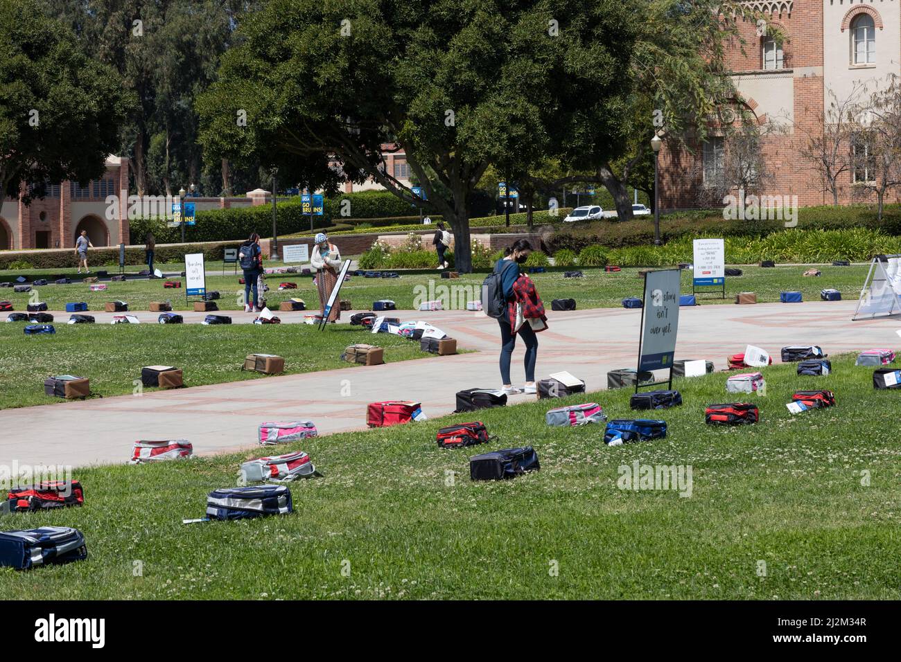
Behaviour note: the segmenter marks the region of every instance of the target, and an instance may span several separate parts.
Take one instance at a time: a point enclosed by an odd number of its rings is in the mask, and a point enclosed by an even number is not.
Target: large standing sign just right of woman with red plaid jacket
[[[651,271],[644,277],[639,370],[672,367],[678,331],[679,270]]]

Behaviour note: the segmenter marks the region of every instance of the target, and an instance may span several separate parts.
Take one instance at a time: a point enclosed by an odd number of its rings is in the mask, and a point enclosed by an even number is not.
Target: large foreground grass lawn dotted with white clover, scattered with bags
[[[628,389],[285,449],[79,470],[84,507],[16,514],[4,527],[77,527],[88,559],[32,572],[2,568],[0,594],[898,599],[901,393],[874,391],[872,369],[852,363],[833,361],[826,377],[796,376],[794,365],[765,368],[768,394],[749,396],[761,422],[745,428],[703,422],[705,404],[736,397],[725,393],[723,373],[678,381],[685,404],[652,416],[669,423],[669,436],[619,448],[605,447],[602,426],[548,428],[544,413],[596,400],[610,418],[632,417]],[[838,406],[792,415],[785,404],[799,388],[830,388]],[[436,446],[439,427],[472,420],[497,439],[474,449]],[[538,451],[541,471],[469,480],[470,456],[525,444]],[[291,486],[293,514],[181,523],[203,516],[210,490],[235,485],[242,459],[296,448],[325,476]],[[636,461],[692,467],[690,497],[619,489],[620,467]]]

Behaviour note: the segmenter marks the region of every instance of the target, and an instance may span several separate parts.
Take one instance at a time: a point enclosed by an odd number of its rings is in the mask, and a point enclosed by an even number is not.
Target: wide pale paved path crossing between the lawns
[[[856,302],[701,305],[679,313],[677,358],[709,358],[717,369],[748,343],[774,354],[789,344],[818,344],[830,354],[896,347],[901,322],[851,322]],[[98,313],[102,317],[104,313]],[[138,313],[155,321],[153,313]],[[303,313],[283,313],[286,320]],[[203,313],[187,313],[200,319]],[[348,367],[303,375],[271,376],[103,399],[0,411],[0,465],[121,463],[137,439],[187,439],[196,453],[252,448],[259,422],[312,419],[321,433],[362,430],[366,404],[415,399],[429,416],[451,413],[454,394],[474,386],[497,387],[497,322],[480,313],[399,312],[428,319],[478,353],[422,358],[376,367]],[[236,313],[235,320],[252,315]],[[240,318],[240,320],[239,320]],[[589,391],[606,386],[606,372],[633,367],[641,311],[596,309],[550,313],[539,334],[538,377],[569,370]],[[99,320],[98,320],[99,322]],[[523,349],[514,353],[514,383],[522,384]],[[187,375],[188,382],[190,375]],[[350,394],[342,395],[342,389]],[[527,396],[511,398],[511,404]],[[602,399],[603,401],[603,399]],[[603,402],[602,402],[603,404]]]

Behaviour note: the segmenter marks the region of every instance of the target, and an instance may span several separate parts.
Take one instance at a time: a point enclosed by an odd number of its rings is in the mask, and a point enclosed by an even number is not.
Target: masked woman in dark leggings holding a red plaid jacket
[[[495,273],[501,275],[507,302],[506,314],[497,319],[501,329],[500,368],[505,394],[535,394],[535,360],[538,358],[538,338],[535,332],[547,328],[547,318],[532,279],[523,276],[520,270],[520,265],[529,258],[531,252],[532,245],[527,240],[516,240],[513,246],[505,250],[505,257],[497,260],[495,265]],[[517,334],[525,343],[525,384],[522,389],[514,387],[510,379],[510,360],[516,347]]]

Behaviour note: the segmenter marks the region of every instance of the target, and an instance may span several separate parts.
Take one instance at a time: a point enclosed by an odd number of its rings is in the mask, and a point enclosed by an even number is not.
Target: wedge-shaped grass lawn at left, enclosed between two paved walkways
[[[0,409],[64,402],[43,393],[49,375],[89,377],[91,390],[107,396],[132,393],[142,366],[181,367],[185,384],[199,386],[264,378],[241,370],[244,357],[253,353],[284,357],[286,374],[358,367],[340,358],[358,342],[385,347],[389,363],[432,356],[418,342],[347,324],[324,331],[307,324],[55,326],[55,335],[26,336],[23,323],[0,324]]]

